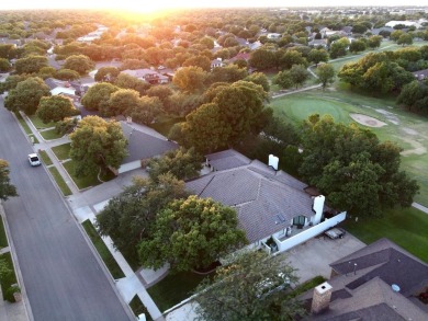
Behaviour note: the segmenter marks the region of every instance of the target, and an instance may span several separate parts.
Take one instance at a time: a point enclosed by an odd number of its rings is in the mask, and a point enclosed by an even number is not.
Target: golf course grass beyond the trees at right
[[[349,90],[312,90],[271,101],[274,114],[288,122],[301,124],[314,113],[329,114],[336,122],[351,123],[350,113],[369,115],[386,123],[371,129],[378,137],[391,140],[404,149],[402,168],[418,181],[418,203],[428,206],[428,126],[425,117],[406,112],[395,104],[394,98],[373,98]]]

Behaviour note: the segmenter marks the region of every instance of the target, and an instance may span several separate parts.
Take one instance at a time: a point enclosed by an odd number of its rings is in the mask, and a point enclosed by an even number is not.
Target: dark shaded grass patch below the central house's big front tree
[[[168,310],[193,295],[196,286],[207,275],[192,272],[169,274],[166,278],[148,288],[147,291],[160,311]]]

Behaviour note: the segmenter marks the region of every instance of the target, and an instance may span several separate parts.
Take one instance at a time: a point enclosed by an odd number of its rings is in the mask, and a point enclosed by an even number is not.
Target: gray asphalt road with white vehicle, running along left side
[[[0,137],[20,194],[4,209],[34,320],[129,320],[44,167],[30,167],[31,145],[2,99]]]

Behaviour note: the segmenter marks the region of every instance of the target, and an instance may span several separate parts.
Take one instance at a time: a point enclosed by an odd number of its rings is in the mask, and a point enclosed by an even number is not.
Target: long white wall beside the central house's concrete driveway
[[[346,219],[346,217],[347,217],[347,213],[342,211],[342,213],[336,215],[335,217],[326,219],[325,221],[323,221],[323,222],[320,222],[320,223],[318,223],[318,225],[316,225],[307,230],[302,231],[299,234],[295,234],[289,239],[283,240],[282,242],[273,236],[273,240],[278,244],[278,250],[279,250],[278,253],[288,251],[291,248],[294,248],[294,247],[296,247],[303,242],[306,242],[307,240],[325,232],[329,228],[343,221]]]

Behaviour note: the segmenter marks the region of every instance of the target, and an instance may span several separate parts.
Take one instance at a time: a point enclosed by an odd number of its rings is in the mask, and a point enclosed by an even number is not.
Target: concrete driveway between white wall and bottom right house
[[[347,232],[343,239],[314,238],[280,255],[284,255],[285,260],[297,268],[296,274],[303,283],[317,275],[330,278],[330,263],[363,247],[363,242]]]

